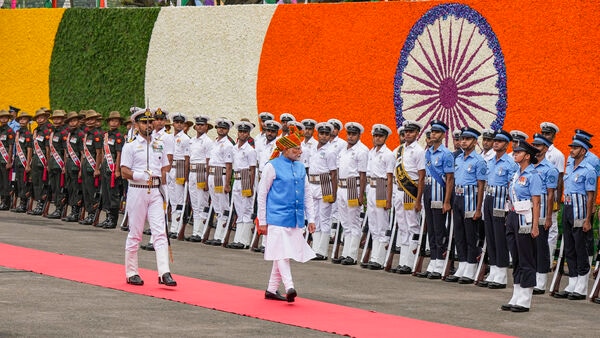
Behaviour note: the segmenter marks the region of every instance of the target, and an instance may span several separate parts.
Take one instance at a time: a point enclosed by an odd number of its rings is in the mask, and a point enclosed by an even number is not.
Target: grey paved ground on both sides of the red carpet
[[[28,248],[120,264],[125,235],[118,229],[0,212],[0,242]],[[260,254],[177,241],[173,251],[171,269],[176,274],[257,290],[266,287],[270,263]],[[155,269],[154,254],[140,252],[140,266]],[[304,298],[515,336],[598,336],[600,305],[588,301],[546,294],[535,296],[531,312],[515,314],[499,310],[511,288],[488,290],[331,262],[293,264],[292,272]],[[327,335],[3,267],[0,304],[0,337]],[[401,336],[402,328],[390,333]]]

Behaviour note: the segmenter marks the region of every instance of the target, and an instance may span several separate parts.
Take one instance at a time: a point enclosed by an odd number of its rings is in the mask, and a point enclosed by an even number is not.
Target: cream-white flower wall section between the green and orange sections
[[[258,64],[275,8],[162,8],[146,63],[150,106],[255,122]]]

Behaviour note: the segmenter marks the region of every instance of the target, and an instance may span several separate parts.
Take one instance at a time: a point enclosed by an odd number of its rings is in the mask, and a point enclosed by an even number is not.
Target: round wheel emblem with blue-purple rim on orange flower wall
[[[506,114],[506,67],[492,28],[461,4],[429,10],[412,27],[394,78],[396,124],[441,120],[502,128]]]

